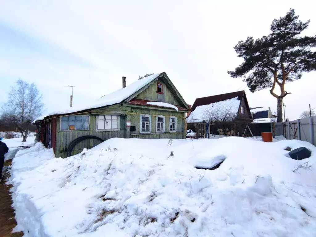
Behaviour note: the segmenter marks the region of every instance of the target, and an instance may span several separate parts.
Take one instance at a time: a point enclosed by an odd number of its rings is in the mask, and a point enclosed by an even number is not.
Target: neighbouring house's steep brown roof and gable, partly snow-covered
[[[186,123],[232,122],[252,120],[244,90],[197,98]]]

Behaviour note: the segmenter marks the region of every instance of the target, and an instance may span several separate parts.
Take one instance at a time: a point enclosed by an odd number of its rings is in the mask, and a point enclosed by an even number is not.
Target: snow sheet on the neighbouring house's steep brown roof
[[[187,123],[196,123],[202,121],[232,121],[238,113],[240,100],[234,97],[228,100],[215,102],[208,105],[200,105],[193,110]]]

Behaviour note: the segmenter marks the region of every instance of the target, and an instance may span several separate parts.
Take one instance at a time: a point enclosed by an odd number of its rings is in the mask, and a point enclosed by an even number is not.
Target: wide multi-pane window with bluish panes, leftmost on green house
[[[88,115],[62,116],[60,120],[60,131],[89,130]]]

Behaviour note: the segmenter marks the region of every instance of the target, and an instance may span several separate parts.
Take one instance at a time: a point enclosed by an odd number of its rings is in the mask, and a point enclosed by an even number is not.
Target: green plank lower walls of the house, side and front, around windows
[[[169,101],[170,103],[170,101]],[[118,131],[96,131],[96,118],[98,114],[115,114],[119,116],[119,130]],[[140,133],[140,114],[151,115],[151,133],[141,134]],[[92,135],[102,138],[104,141],[112,137],[121,138],[168,138],[168,139],[184,139],[185,138],[185,113],[176,112],[175,110],[158,110],[152,108],[138,108],[123,106],[121,104],[116,104],[112,106],[107,106],[101,109],[93,110],[89,113],[84,113],[81,115],[89,115],[89,130],[85,131],[60,131],[60,118],[57,119],[57,133],[56,133],[56,157],[67,157],[67,148],[69,144],[76,138],[85,135]],[[165,116],[165,132],[156,132],[156,115]],[[170,116],[177,117],[177,131],[169,132]],[[131,132],[130,128],[126,128],[126,121],[131,121],[131,126],[136,127],[136,131]],[[100,144],[100,141],[95,139],[88,139],[78,143],[71,155],[76,155],[82,152],[84,148],[90,149],[96,145]]]

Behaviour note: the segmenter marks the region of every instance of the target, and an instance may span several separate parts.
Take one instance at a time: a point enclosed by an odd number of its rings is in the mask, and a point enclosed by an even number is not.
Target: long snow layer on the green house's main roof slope
[[[70,107],[65,110],[60,110],[60,111],[53,111],[50,112],[44,116],[41,116],[37,120],[43,120],[47,116],[51,115],[57,115],[57,114],[67,114],[67,113],[73,113],[73,112],[79,112],[82,110],[86,109],[94,109],[94,108],[100,108],[103,106],[109,106],[109,105],[114,105],[122,102],[123,100],[127,99],[130,97],[132,94],[143,88],[145,85],[148,83],[154,81],[158,76],[160,76],[161,73],[157,73],[151,76],[144,77],[143,79],[137,80],[136,82],[131,83],[125,88],[118,89],[116,91],[113,91],[110,94],[104,95],[101,98],[94,100],[90,104],[87,104],[85,106],[75,106],[75,107]]]

